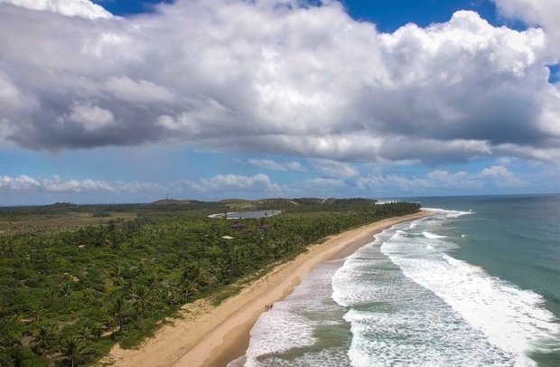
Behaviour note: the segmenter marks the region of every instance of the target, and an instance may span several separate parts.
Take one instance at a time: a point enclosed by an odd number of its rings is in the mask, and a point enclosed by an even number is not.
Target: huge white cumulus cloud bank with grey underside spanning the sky
[[[335,1],[176,1],[94,19],[53,13],[94,14],[87,0],[0,1],[2,136],[33,149],[173,142],[339,162],[555,162],[554,9],[496,2],[536,27],[459,11],[378,33]]]

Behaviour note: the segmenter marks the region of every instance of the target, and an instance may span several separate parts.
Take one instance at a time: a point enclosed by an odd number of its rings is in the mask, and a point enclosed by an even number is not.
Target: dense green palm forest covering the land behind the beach
[[[218,303],[310,244],[419,207],[310,198],[0,208],[0,366],[98,361],[186,303]],[[273,209],[283,213],[208,217]]]

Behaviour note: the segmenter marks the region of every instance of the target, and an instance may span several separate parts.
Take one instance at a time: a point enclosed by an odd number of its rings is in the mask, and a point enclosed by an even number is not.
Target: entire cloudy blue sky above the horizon
[[[0,0],[0,206],[560,193],[560,0]]]

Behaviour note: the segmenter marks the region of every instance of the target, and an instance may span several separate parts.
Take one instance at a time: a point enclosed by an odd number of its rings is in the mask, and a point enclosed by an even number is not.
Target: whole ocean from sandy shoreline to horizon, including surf
[[[307,274],[245,366],[560,366],[560,195],[406,200],[435,215]]]

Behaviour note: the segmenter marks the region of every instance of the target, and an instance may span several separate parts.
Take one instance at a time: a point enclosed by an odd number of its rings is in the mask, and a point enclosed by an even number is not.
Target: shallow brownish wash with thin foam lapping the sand
[[[259,317],[251,330],[245,366],[349,365],[350,327],[331,299],[331,278],[341,261],[321,264],[294,293]]]

